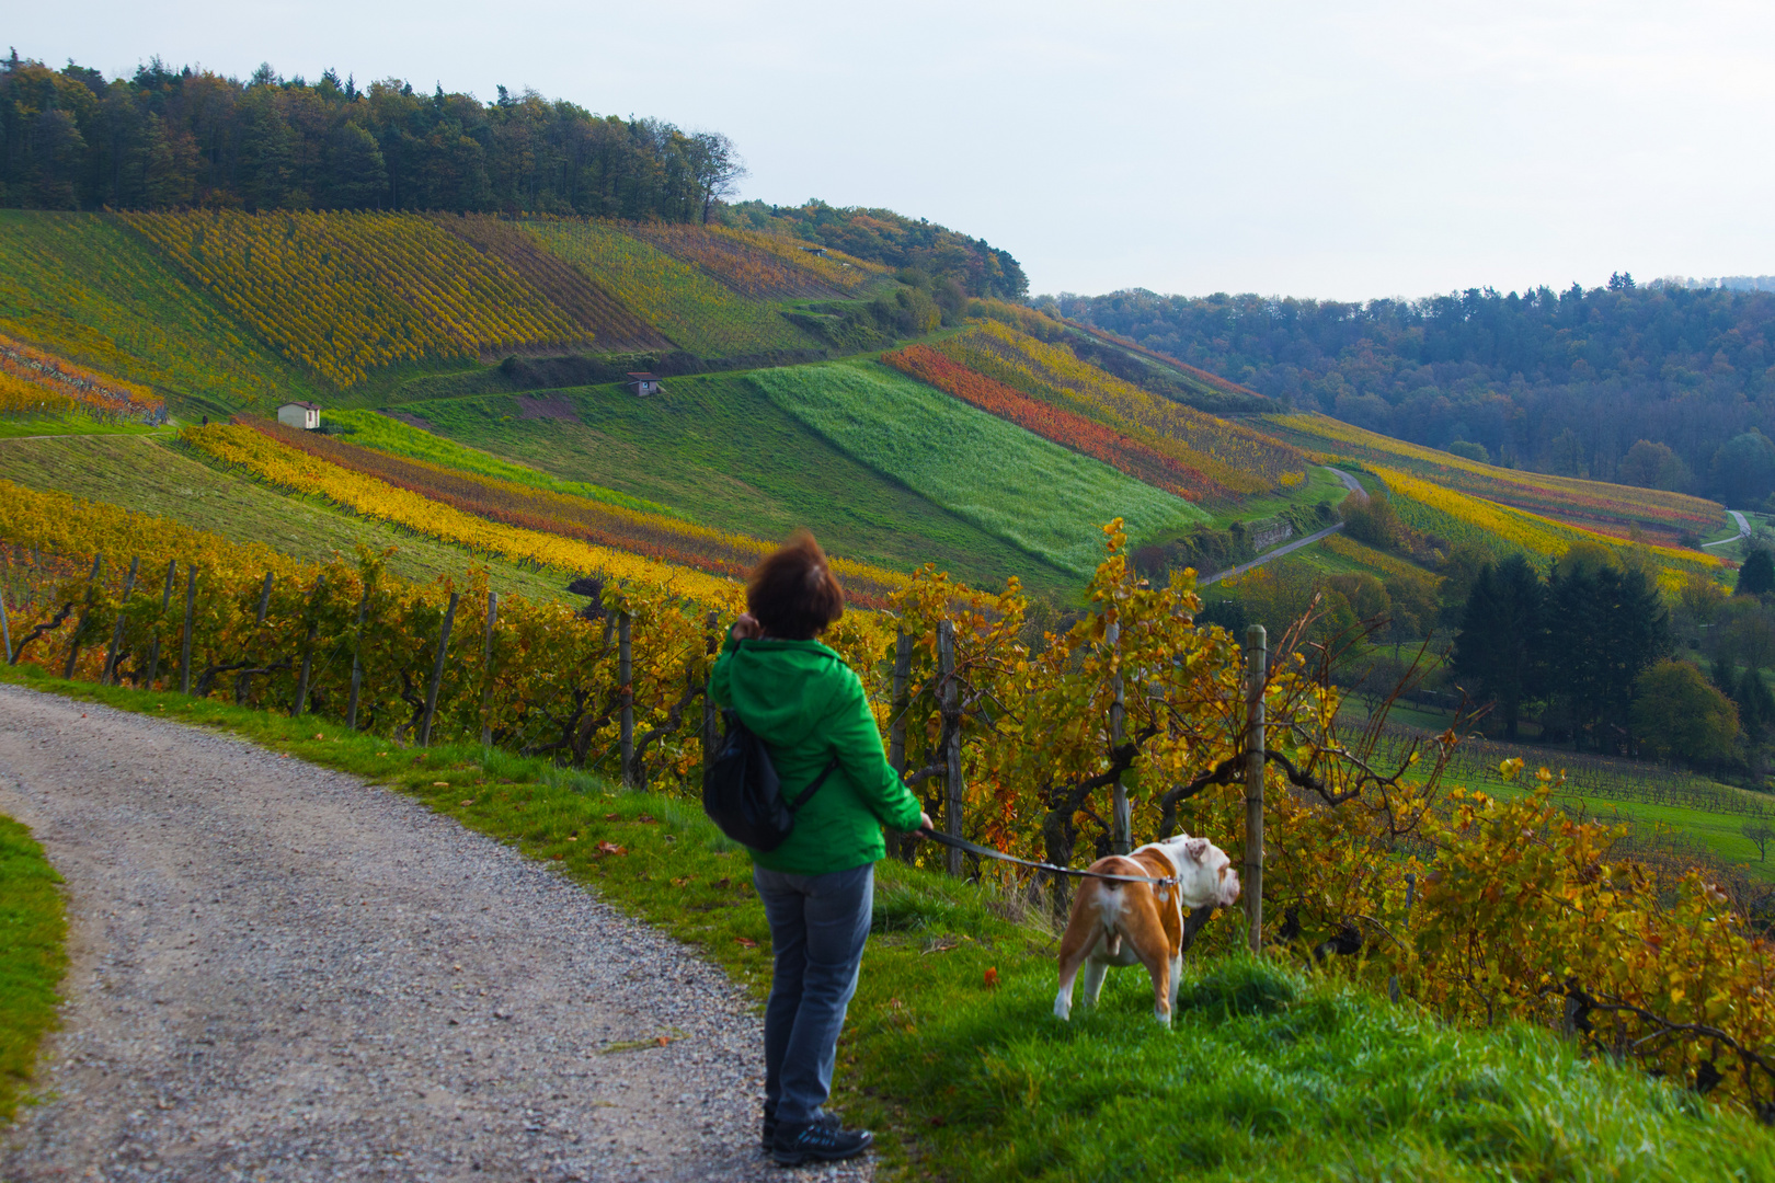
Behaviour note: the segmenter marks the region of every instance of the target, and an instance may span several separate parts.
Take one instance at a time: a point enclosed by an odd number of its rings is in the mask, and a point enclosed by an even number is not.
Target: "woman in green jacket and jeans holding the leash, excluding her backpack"
[[[710,674],[710,697],[770,748],[785,798],[836,763],[788,839],[753,851],[776,956],[765,1006],[765,1149],[785,1165],[831,1162],[875,1140],[868,1130],[841,1130],[824,1107],[870,935],[875,860],[888,853],[882,827],[912,832],[930,818],[888,764],[863,681],[815,640],[843,615],[845,594],[811,534],[758,564],[746,607]]]

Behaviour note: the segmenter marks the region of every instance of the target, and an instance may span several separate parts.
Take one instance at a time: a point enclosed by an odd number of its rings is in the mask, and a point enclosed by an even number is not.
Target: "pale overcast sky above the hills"
[[[493,96],[733,137],[746,197],[888,206],[1035,293],[1427,294],[1775,273],[1775,5],[21,5],[25,57]]]

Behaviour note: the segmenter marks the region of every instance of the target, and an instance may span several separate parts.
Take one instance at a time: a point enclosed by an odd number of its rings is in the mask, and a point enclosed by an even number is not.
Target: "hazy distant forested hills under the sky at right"
[[[1775,491],[1775,293],[1613,275],[1367,303],[1120,291],[1054,305],[1415,443],[1732,507]]]

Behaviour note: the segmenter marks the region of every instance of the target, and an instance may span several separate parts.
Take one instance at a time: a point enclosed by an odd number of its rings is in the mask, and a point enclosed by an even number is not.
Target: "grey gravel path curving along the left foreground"
[[[71,958],[4,1179],[872,1178],[760,1153],[719,968],[410,798],[0,686],[0,811]]]

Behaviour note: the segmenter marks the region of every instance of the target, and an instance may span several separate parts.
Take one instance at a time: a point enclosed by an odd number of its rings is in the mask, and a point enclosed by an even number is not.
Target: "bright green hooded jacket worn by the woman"
[[[795,812],[788,839],[753,851],[758,866],[786,874],[850,871],[888,853],[884,825],[918,828],[923,809],[882,752],[863,681],[818,640],[730,635],[708,693],[765,741],[788,800],[838,757],[832,775]]]

